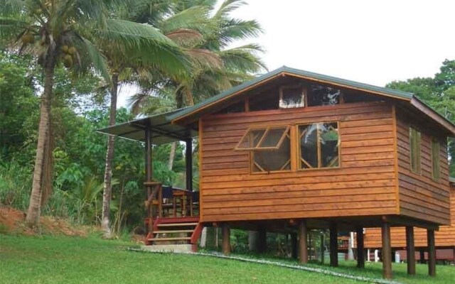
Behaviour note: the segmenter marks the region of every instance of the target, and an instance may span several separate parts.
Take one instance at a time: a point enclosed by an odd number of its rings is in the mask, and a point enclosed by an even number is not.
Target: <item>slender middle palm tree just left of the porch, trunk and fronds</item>
[[[129,40],[134,45],[122,43],[112,44],[109,37],[97,36],[96,45],[107,59],[108,71],[111,78],[109,125],[115,124],[117,114],[117,92],[119,84],[129,82],[135,77],[148,80],[152,72],[161,72],[166,75],[176,75],[184,72],[187,67],[186,57],[172,40],[161,34],[148,24],[139,24],[123,19],[122,15],[129,15],[129,11],[137,9],[134,1],[125,2],[116,7],[113,14],[116,20],[109,19],[107,24],[120,23],[123,33],[132,35]],[[135,77],[134,77],[135,76]],[[109,225],[110,200],[112,192],[112,159],[114,158],[114,136],[107,138],[105,160],[105,177],[102,202],[102,231],[105,237],[110,237]]]

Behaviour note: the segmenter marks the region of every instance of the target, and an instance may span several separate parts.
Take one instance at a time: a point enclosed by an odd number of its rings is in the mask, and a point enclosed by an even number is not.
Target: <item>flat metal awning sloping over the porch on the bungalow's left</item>
[[[145,141],[145,129],[149,126],[152,133],[151,143],[155,145],[173,141],[185,141],[188,138],[198,136],[198,131],[191,129],[191,126],[180,126],[171,123],[168,116],[176,114],[178,111],[181,111],[181,109],[108,126],[104,129],[98,129],[97,132],[143,142]]]

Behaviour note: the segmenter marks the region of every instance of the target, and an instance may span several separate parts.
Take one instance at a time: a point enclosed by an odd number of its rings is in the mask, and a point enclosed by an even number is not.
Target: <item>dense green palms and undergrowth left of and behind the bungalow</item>
[[[95,131],[145,101],[168,111],[264,70],[257,45],[233,47],[262,31],[229,16],[244,4],[0,0],[0,202],[31,226],[41,211],[81,224],[104,215],[117,234],[140,226],[143,146],[120,139],[114,151]],[[134,112],[117,109],[125,86],[146,94]],[[154,178],[183,185],[183,151],[154,147]]]

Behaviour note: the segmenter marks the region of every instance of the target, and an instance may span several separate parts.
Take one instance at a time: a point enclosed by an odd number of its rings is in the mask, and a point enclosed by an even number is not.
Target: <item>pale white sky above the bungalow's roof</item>
[[[383,87],[431,77],[445,59],[455,59],[454,0],[246,2],[232,16],[264,28],[245,43],[262,45],[269,70],[287,65]]]

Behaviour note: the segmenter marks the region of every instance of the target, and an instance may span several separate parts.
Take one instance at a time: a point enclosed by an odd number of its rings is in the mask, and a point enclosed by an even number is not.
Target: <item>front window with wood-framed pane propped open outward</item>
[[[251,151],[253,173],[291,170],[289,126],[248,129],[235,150]]]

